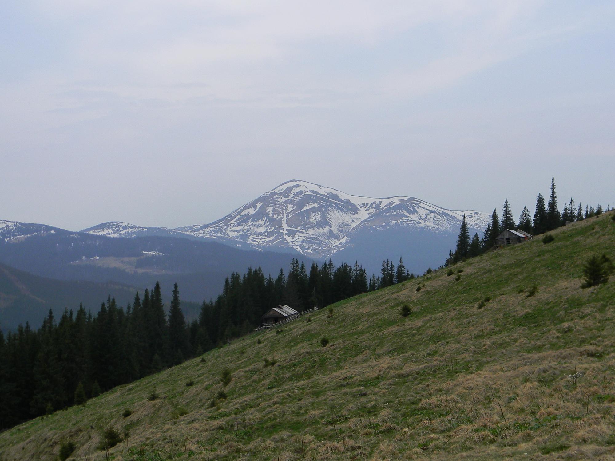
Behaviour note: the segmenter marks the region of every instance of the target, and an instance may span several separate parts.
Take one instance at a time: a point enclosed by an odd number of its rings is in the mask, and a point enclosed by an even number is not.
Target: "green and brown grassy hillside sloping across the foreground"
[[[440,270],[418,292],[413,280],[357,296],[331,318],[32,420],[0,434],[1,458],[53,459],[70,439],[77,459],[104,459],[95,446],[112,424],[130,433],[116,459],[612,459],[615,280],[581,290],[579,278],[589,254],[615,259],[611,215],[458,264],[459,281]],[[226,366],[228,399],[210,408]],[[161,398],[148,401],[154,387]]]

